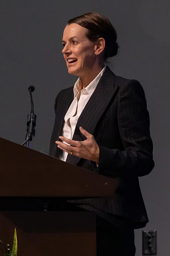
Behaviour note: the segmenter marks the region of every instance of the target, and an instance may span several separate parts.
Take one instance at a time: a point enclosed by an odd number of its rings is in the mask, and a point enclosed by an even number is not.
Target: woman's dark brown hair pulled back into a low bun
[[[88,12],[71,20],[68,20],[67,25],[70,25],[72,23],[77,23],[78,25],[88,29],[88,33],[86,36],[91,41],[96,41],[99,38],[105,39],[105,60],[117,54],[119,48],[118,43],[116,43],[117,33],[116,30],[113,28],[110,20],[108,20],[108,18],[106,18],[104,15],[101,15],[97,12]]]

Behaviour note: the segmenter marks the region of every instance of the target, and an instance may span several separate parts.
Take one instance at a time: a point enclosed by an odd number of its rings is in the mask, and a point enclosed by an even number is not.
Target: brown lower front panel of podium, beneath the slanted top
[[[10,248],[15,227],[18,256],[96,256],[92,212],[0,211],[0,239]]]

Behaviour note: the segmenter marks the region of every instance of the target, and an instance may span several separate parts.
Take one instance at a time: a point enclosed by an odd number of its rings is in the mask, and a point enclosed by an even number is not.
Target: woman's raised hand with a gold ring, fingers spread
[[[92,160],[94,162],[99,162],[99,146],[96,143],[94,136],[92,134],[89,134],[88,131],[83,129],[81,126],[79,130],[87,138],[87,140],[76,141],[59,136],[60,140],[68,143],[69,145],[61,141],[56,141],[56,143],[58,144],[58,148],[68,152],[68,154],[71,154],[72,151],[72,154],[74,156]]]

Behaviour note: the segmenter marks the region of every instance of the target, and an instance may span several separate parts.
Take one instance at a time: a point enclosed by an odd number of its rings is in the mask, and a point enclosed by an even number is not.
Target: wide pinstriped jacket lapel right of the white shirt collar
[[[84,137],[79,131],[80,126],[90,134],[94,133],[94,129],[96,128],[100,117],[104,113],[117,90],[118,86],[115,86],[115,78],[116,76],[113,72],[106,67],[106,70],[96,86],[94,93],[79,116],[72,140],[83,141],[86,139],[86,137]],[[79,157],[68,154],[66,162],[77,165],[79,160]]]

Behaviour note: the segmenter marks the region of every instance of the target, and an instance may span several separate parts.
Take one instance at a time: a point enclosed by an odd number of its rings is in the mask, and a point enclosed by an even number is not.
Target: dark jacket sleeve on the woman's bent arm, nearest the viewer
[[[124,150],[99,146],[98,173],[116,177],[138,177],[154,167],[153,143],[144,90],[136,80],[119,87],[117,121]]]

